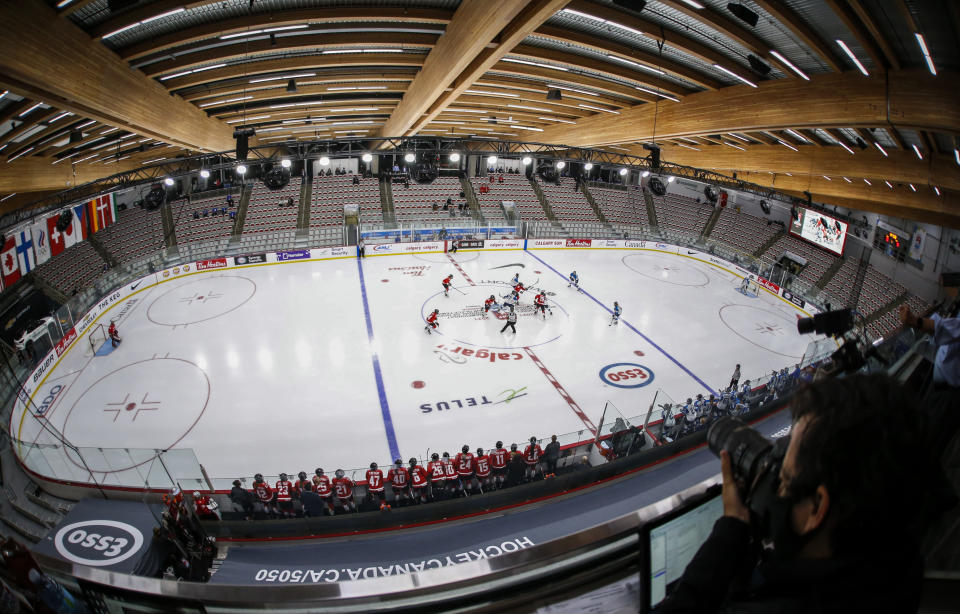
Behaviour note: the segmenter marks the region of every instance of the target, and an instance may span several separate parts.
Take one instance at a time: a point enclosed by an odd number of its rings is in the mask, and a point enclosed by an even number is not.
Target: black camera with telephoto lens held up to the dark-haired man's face
[[[770,441],[739,418],[724,417],[707,430],[707,445],[717,456],[721,450],[730,454],[737,489],[750,510],[756,537],[772,539],[772,505],[790,436]]]

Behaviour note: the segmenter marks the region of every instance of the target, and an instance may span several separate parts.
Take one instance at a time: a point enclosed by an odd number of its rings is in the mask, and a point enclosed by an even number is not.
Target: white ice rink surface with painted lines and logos
[[[574,269],[582,292],[568,287]],[[499,301],[517,273],[547,292],[553,313],[534,315],[528,292],[516,334],[501,333],[504,320],[482,317],[483,300]],[[10,431],[43,444],[56,430],[78,448],[189,448],[217,488],[256,472],[384,466],[498,439],[570,443],[592,436],[608,401],[637,416],[658,390],[676,400],[716,392],[735,363],[741,383],[798,363],[812,341],[796,332],[804,312],[768,292],[745,296],[739,284],[682,250],[426,253],[197,272],[131,288],[98,320],[115,319],[123,343],[92,356],[85,333],[32,391],[43,417],[15,412]],[[615,300],[623,316],[610,325]],[[427,334],[423,318],[435,308],[440,328]],[[85,460],[98,482],[131,485],[139,454]],[[84,479],[71,454],[51,456],[27,464]]]

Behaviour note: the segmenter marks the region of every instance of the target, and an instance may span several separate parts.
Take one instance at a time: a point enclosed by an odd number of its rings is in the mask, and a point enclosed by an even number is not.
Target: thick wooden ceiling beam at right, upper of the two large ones
[[[824,74],[810,81],[777,80],[759,89],[731,86],[697,92],[681,102],[638,105],[621,115],[591,117],[576,126],[551,128],[547,143],[596,146],[724,132],[757,132],[790,127],[889,126],[960,133],[960,90],[956,74],[910,70],[851,77]],[[841,104],[842,101],[842,104]]]

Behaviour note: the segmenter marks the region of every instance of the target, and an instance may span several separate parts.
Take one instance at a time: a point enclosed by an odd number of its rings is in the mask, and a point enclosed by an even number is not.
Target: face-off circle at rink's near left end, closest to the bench
[[[153,454],[147,451],[176,446],[200,420],[209,399],[207,374],[188,360],[153,358],[121,367],[91,384],[73,402],[63,434],[78,448],[131,453],[84,454],[81,462],[68,450],[68,457],[97,473],[124,471],[151,461]]]

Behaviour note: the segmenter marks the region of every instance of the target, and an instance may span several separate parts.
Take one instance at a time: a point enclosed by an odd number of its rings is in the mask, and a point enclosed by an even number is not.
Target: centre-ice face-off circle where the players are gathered
[[[420,309],[420,317],[426,319],[434,309],[440,310],[440,328],[434,334],[440,334],[447,340],[458,343],[486,347],[491,349],[512,350],[522,347],[536,347],[556,341],[569,328],[570,314],[547,293],[547,306],[553,315],[547,312],[543,318],[534,311],[533,297],[536,290],[528,290],[520,295],[517,305],[516,334],[500,329],[507,323],[507,308],[503,307],[503,295],[510,286],[484,283],[475,286],[456,286],[450,289],[449,296],[438,292],[428,298]],[[493,295],[501,306],[499,312],[491,310],[484,319],[483,303]]]

